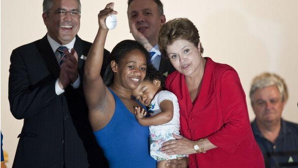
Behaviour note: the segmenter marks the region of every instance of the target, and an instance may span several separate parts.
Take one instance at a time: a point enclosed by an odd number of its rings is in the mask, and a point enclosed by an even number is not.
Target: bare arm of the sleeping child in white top
[[[143,126],[161,125],[171,121],[174,113],[173,102],[171,100],[163,100],[159,103],[159,107],[162,111],[148,118],[144,118],[146,115],[144,109],[141,110],[140,107],[135,107],[134,114],[136,120]]]

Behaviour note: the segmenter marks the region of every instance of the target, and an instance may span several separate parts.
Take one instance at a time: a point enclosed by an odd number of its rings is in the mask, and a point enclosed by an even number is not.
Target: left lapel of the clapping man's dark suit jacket
[[[49,72],[56,78],[59,77],[60,67],[46,35],[39,41],[37,48]]]

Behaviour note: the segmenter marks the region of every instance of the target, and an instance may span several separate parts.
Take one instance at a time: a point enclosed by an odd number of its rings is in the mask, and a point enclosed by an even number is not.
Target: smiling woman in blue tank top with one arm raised
[[[147,50],[133,40],[118,43],[110,54],[104,80],[100,76],[108,32],[105,18],[116,14],[113,5],[108,4],[98,15],[99,30],[85,62],[89,121],[110,167],[152,168],[156,161],[149,154],[149,129],[136,121],[133,107],[140,105],[132,99],[133,89],[146,75]]]

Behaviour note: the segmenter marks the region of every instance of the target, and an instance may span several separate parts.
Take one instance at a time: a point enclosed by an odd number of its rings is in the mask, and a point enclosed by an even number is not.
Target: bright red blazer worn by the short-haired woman
[[[189,167],[264,167],[237,72],[205,59],[202,86],[193,103],[183,74],[175,71],[165,81],[178,98],[181,135],[191,140],[207,137],[217,146],[189,155]]]

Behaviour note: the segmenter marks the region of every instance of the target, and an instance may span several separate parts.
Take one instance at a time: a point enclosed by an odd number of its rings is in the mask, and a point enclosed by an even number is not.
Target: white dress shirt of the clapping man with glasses
[[[56,59],[60,58],[60,53],[57,51],[57,49],[61,46],[61,44],[57,43],[54,39],[52,39],[49,36],[49,34],[47,34],[47,38],[50,43],[50,46],[52,47],[52,50],[55,54]],[[75,42],[75,37],[70,43],[63,45],[63,46],[67,47],[68,51],[71,52],[71,49],[74,47],[74,42]],[[59,60],[57,60],[57,62],[59,64]],[[58,80],[59,80],[59,77],[57,78],[56,83],[55,83],[55,92],[57,95],[60,95],[61,93],[64,92],[64,89],[60,88]],[[73,84],[71,84],[71,86],[76,89],[80,86],[80,83],[81,83],[80,76],[78,76],[78,79]]]

